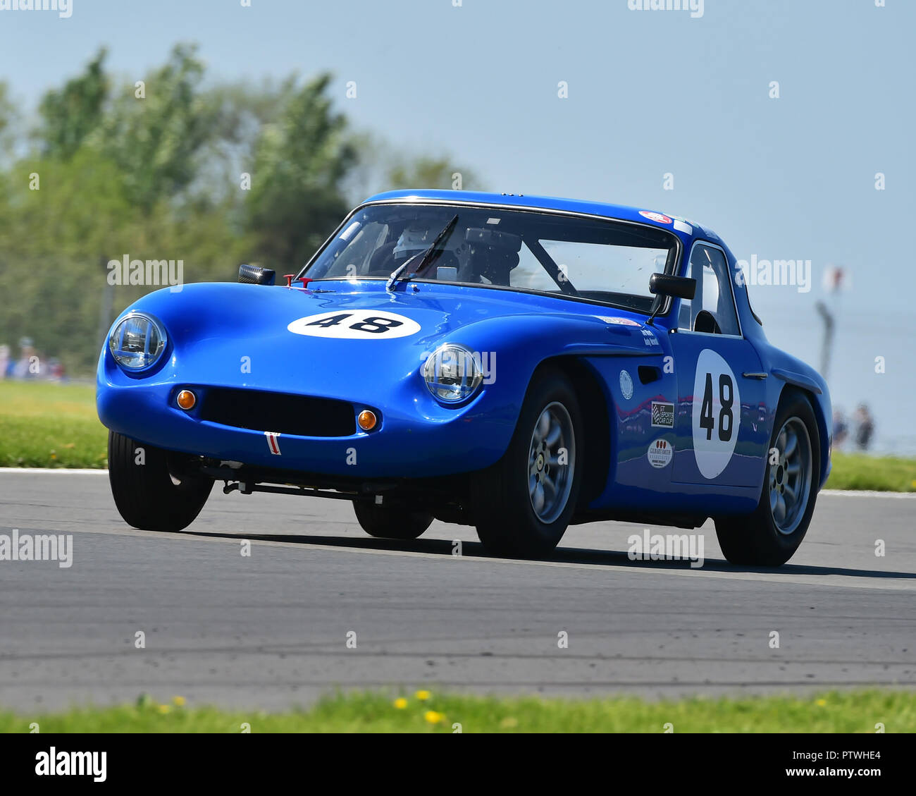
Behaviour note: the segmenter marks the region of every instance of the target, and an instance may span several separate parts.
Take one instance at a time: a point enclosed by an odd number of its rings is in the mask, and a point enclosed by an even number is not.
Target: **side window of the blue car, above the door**
[[[699,243],[693,247],[687,276],[696,280],[692,301],[682,299],[678,328],[710,334],[739,335],[728,263],[719,249]]]

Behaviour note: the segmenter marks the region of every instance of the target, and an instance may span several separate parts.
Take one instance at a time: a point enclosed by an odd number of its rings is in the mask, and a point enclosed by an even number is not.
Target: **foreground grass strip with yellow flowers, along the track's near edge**
[[[819,696],[644,702],[496,698],[424,692],[352,693],[291,713],[245,713],[158,704],[80,708],[67,713],[0,713],[0,732],[27,733],[889,733],[916,732],[916,693],[842,691]]]

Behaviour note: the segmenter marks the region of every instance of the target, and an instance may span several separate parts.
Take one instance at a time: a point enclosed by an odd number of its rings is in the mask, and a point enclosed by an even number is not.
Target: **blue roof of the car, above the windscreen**
[[[583,213],[588,216],[604,216],[624,221],[636,221],[678,233],[685,240],[712,238],[718,236],[708,228],[694,221],[670,213],[653,210],[650,207],[629,207],[605,202],[585,202],[581,199],[562,199],[556,196],[532,196],[528,193],[485,193],[482,191],[434,191],[428,189],[408,191],[387,191],[376,193],[365,200],[370,202],[391,202],[396,200],[431,200],[436,202],[466,202],[479,205],[504,205],[507,207],[535,208],[538,210],[560,210],[566,213]],[[649,213],[663,216],[661,220],[641,215]],[[671,219],[665,221],[664,217]]]

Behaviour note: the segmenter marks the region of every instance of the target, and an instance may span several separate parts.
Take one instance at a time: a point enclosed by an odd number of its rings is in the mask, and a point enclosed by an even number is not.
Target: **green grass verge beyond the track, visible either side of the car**
[[[102,467],[107,433],[86,384],[0,381],[0,467]],[[916,492],[916,459],[834,453],[827,489]]]

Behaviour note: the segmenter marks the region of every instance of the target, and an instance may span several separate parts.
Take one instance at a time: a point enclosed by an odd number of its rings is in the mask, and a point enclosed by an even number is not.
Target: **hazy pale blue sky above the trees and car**
[[[807,293],[750,290],[769,338],[814,365],[823,271],[843,265],[834,404],[866,401],[879,447],[916,453],[914,0],[694,0],[695,17],[637,0],[250,4],[0,10],[0,79],[34,110],[101,45],[137,80],[179,40],[212,80],[331,70],[356,127],[449,154],[485,189],[638,205],[713,228],[739,259],[811,260]]]

